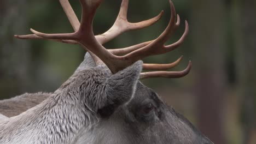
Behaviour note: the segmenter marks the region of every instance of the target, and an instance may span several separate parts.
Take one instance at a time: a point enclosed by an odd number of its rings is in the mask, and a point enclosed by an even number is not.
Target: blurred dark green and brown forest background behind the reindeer
[[[107,31],[119,12],[121,0],[104,1],[94,21],[95,34]],[[182,24],[166,43],[178,40],[189,22],[184,44],[164,55],[144,59],[147,63],[170,63],[184,55],[172,70],[193,62],[190,74],[181,79],[148,79],[169,105],[187,117],[214,143],[256,143],[256,1],[173,0]],[[80,17],[79,1],[71,1]],[[158,37],[167,26],[167,0],[130,1],[128,19],[149,19],[161,10],[153,26],[126,32],[107,48],[126,47]],[[19,40],[14,34],[73,32],[59,1],[0,1],[0,99],[25,92],[54,92],[83,61],[79,45],[48,40]]]

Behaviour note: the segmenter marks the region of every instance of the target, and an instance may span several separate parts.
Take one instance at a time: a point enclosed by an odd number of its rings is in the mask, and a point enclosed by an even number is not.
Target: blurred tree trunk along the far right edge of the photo
[[[256,136],[256,1],[233,1],[238,91],[242,100],[243,142],[255,143]]]

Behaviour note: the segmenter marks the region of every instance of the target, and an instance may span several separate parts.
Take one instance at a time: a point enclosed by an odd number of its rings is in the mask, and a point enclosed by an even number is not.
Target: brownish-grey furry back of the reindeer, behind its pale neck
[[[40,104],[51,93],[25,93],[14,98],[0,101],[0,113],[7,117],[17,116],[20,113]]]

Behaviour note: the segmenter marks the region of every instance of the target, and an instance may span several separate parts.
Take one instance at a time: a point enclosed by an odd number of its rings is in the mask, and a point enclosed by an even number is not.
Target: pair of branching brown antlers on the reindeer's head
[[[148,41],[146,43],[138,44],[135,46],[127,47],[125,49],[117,49],[117,50],[106,50],[102,44],[106,43],[107,41],[117,37],[117,35],[128,31],[130,29],[139,29],[143,27],[147,27],[152,25],[154,22],[158,21],[162,15],[162,12],[154,17],[153,19],[139,22],[139,23],[130,23],[127,21],[127,6],[128,0],[123,0],[121,4],[121,9],[118,15],[117,20],[115,21],[114,25],[104,34],[94,36],[92,31],[92,20],[94,18],[96,9],[101,4],[102,0],[94,0],[94,1],[85,1],[80,0],[82,5],[82,21],[79,28],[78,21],[75,14],[72,12],[72,8],[67,0],[60,0],[63,9],[65,9],[65,13],[68,16],[71,25],[73,26],[75,32],[74,33],[67,33],[67,34],[44,34],[31,29],[31,31],[36,35],[22,35],[16,37],[23,38],[23,39],[51,39],[51,40],[58,40],[65,43],[79,43],[81,44],[84,49],[91,51],[97,57],[99,57],[112,71],[112,73],[116,73],[117,71],[126,68],[127,66],[131,65],[132,63],[138,61],[147,56],[151,55],[159,55],[161,53],[169,52],[176,47],[178,47],[184,40],[185,36],[188,33],[188,23],[185,22],[185,32],[182,35],[181,39],[179,39],[176,43],[168,46],[164,46],[165,41],[170,37],[170,35],[174,32],[174,30],[179,26],[179,16],[177,15],[177,22],[175,21],[175,9],[170,1],[171,4],[171,12],[172,16],[170,22],[165,29],[165,31],[155,40]],[[71,13],[68,13],[71,11]],[[77,31],[76,31],[77,30]],[[121,54],[126,54],[124,56],[117,56]],[[113,55],[114,54],[114,55]],[[180,59],[179,59],[180,60]],[[155,64],[144,64],[143,67],[152,70],[159,70],[159,69],[167,69],[173,67],[173,65],[177,65],[179,61],[174,64],[165,64],[165,65],[155,65]],[[172,72],[172,71],[154,71],[148,73],[142,73],[141,78],[148,78],[148,77],[181,77],[187,75],[191,68],[191,62],[189,66],[184,71],[180,72]]]

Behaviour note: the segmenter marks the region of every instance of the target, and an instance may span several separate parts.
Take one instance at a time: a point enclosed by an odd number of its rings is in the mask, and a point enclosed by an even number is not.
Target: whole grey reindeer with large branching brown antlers
[[[189,73],[191,62],[183,71],[160,71],[174,67],[181,58],[171,64],[143,64],[140,60],[176,49],[188,34],[186,21],[181,39],[164,45],[180,23],[173,3],[170,1],[170,22],[158,38],[107,50],[104,43],[125,31],[153,25],[162,12],[150,20],[130,23],[126,19],[128,0],[123,0],[113,27],[95,36],[92,21],[101,2],[80,0],[79,23],[68,0],[60,0],[74,33],[45,34],[31,29],[34,34],[15,35],[20,39],[80,44],[88,53],[74,74],[54,93],[46,94],[42,103],[17,116],[2,116],[0,143],[212,143],[152,89],[139,82],[150,77],[178,78]],[[155,71],[141,73],[142,69]]]

